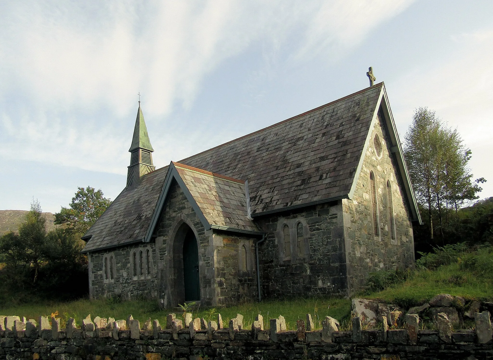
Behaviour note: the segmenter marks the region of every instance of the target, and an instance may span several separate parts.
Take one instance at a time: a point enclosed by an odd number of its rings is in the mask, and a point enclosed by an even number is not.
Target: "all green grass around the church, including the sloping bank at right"
[[[439,293],[462,296],[466,300],[493,299],[493,247],[467,248],[464,244],[447,246],[437,249],[434,253],[424,254],[417,261],[417,270],[407,273],[378,272],[368,281],[366,292],[354,297],[378,299],[389,304],[397,304],[407,310],[412,306],[422,305]],[[112,317],[116,320],[127,319],[133,315],[141,323],[148,318],[158,319],[166,324],[166,315],[176,313],[179,319],[182,311],[176,309],[160,310],[155,301],[135,300],[117,302],[109,300],[76,300],[71,302],[39,301],[30,304],[14,305],[13,302],[0,304],[1,315],[18,315],[37,319],[39,315],[49,316],[58,311],[62,320],[69,317],[80,324],[88,314],[92,318]],[[286,319],[288,329],[296,328],[298,319],[306,319],[312,314],[316,327],[321,328],[321,320],[331,316],[339,320],[342,328],[350,326],[351,300],[343,298],[311,298],[292,300],[265,300],[261,303],[250,302],[236,306],[217,309],[227,326],[236,314],[244,316],[244,325],[249,327],[257,314],[264,317],[265,328],[269,327],[269,319],[282,315]],[[211,309],[198,308],[193,310],[193,317],[216,320]]]

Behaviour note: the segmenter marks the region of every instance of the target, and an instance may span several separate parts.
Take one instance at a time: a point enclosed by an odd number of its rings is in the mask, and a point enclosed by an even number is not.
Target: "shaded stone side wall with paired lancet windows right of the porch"
[[[255,219],[267,233],[260,245],[261,283],[266,297],[347,294],[341,202]],[[297,223],[303,224],[306,255],[297,256]],[[283,256],[288,225],[291,258]]]

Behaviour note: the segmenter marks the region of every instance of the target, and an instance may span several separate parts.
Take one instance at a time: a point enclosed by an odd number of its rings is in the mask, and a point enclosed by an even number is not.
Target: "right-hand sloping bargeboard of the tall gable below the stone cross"
[[[418,221],[420,225],[423,225],[423,220],[421,219],[420,210],[418,208],[418,203],[416,201],[416,196],[414,194],[413,183],[411,182],[411,178],[409,176],[409,171],[407,169],[406,160],[404,158],[404,152],[402,151],[402,144],[399,139],[399,133],[397,132],[397,127],[395,126],[394,117],[392,114],[392,109],[390,108],[390,104],[388,102],[387,90],[384,88],[384,101],[383,105],[385,106],[384,117],[387,123],[387,127],[391,129],[390,139],[395,142],[393,144],[397,147],[397,151],[395,152],[395,157],[397,160],[398,170],[401,173],[401,177],[403,178],[404,190],[408,198],[408,204],[410,205],[411,213],[413,214],[413,221]],[[385,116],[387,115],[387,116]],[[393,137],[393,139],[392,139]]]

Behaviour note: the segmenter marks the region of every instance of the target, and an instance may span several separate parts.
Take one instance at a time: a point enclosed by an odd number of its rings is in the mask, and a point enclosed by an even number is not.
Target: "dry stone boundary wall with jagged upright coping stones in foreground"
[[[221,328],[216,321],[192,320],[188,326],[175,314],[167,326],[150,319],[141,326],[127,320],[91,319],[81,326],[70,319],[64,329],[60,319],[37,321],[17,316],[0,316],[0,359],[53,360],[273,360],[273,359],[492,359],[493,341],[490,313],[475,313],[475,329],[453,331],[445,313],[438,315],[438,330],[419,330],[420,319],[407,314],[406,328],[389,329],[382,317],[380,329],[363,329],[360,317],[352,319],[352,331],[339,331],[337,320],[326,317],[321,330],[308,314],[297,321],[296,331],[286,331],[282,316],[270,319],[270,329],[258,315],[251,326],[238,314]],[[219,325],[218,325],[219,324]],[[248,327],[248,328],[246,328]]]

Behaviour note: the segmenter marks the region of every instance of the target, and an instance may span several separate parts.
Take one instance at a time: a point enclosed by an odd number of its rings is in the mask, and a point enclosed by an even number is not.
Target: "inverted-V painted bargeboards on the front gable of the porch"
[[[181,179],[180,174],[176,170],[175,164],[172,161],[170,163],[170,167],[168,168],[168,174],[166,174],[166,179],[164,180],[164,185],[161,190],[161,193],[159,194],[156,207],[154,208],[154,212],[152,213],[151,222],[149,224],[149,227],[147,228],[147,231],[143,239],[145,243],[148,243],[151,240],[152,233],[154,232],[154,227],[156,226],[157,221],[159,220],[159,215],[161,214],[161,210],[163,208],[164,202],[166,200],[168,191],[170,190],[170,186],[173,180],[176,180],[176,182],[178,183],[179,187],[181,188],[187,200],[190,202],[190,205],[192,206],[193,210],[195,211],[195,214],[197,214],[197,217],[204,225],[205,229],[206,230],[211,229],[211,224],[204,216],[204,213],[202,212],[199,205],[195,201],[194,197],[190,193],[190,190],[188,190],[188,187],[185,185],[185,182],[183,181],[183,179]]]

